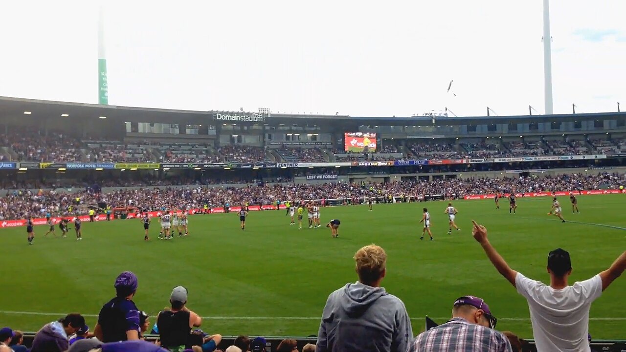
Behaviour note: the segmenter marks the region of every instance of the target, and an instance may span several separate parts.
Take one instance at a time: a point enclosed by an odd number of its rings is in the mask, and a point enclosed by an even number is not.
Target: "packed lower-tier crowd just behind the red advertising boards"
[[[559,175],[557,177],[519,177],[516,179],[440,179],[404,181],[381,184],[274,184],[243,188],[202,185],[188,187],[143,187],[120,189],[108,193],[86,189],[80,192],[55,190],[9,190],[0,198],[0,220],[24,219],[27,216],[55,217],[81,214],[81,207],[106,203],[113,208],[136,207],[146,211],[163,209],[197,209],[204,205],[222,207],[224,204],[275,204],[277,201],[307,199],[355,199],[362,197],[418,197],[443,195],[462,198],[469,194],[496,192],[575,191],[601,188],[617,189],[624,184],[624,175],[602,172],[597,175]],[[77,201],[78,199],[78,201]]]

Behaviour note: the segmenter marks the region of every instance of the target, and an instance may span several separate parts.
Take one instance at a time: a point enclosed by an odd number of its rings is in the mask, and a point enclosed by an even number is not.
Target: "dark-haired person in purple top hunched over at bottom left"
[[[46,324],[35,334],[31,352],[64,352],[69,348],[68,336],[83,326],[85,318],[78,313]]]

